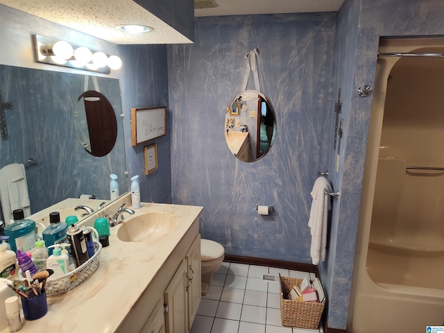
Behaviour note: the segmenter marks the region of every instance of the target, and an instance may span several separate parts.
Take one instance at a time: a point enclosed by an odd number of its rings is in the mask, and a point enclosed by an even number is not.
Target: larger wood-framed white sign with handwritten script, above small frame
[[[167,108],[131,108],[133,146],[167,134]]]

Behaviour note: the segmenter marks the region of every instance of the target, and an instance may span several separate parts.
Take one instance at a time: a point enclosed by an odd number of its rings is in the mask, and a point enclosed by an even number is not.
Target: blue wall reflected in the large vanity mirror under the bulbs
[[[86,153],[76,137],[74,108],[88,91],[111,105],[108,120],[117,119],[107,155]],[[12,103],[4,112],[9,138],[0,140],[0,168],[26,164],[28,157],[38,160],[25,168],[32,213],[81,194],[110,200],[111,173],[119,176],[121,194],[128,189],[118,79],[0,65],[0,92],[3,103]]]

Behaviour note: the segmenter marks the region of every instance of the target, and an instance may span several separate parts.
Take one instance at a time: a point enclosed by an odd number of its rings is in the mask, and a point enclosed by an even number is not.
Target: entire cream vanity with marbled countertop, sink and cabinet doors
[[[122,203],[131,207],[130,194],[79,224],[93,226]],[[20,332],[189,332],[200,303],[202,210],[143,203],[125,214],[111,228],[96,271],[75,289],[48,297],[48,313],[24,322]],[[173,217],[164,221],[160,213]]]

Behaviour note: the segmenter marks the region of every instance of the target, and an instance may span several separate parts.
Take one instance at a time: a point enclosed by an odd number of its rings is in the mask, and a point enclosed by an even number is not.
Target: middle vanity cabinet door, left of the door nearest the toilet
[[[167,333],[188,332],[187,260],[183,259],[165,290]]]

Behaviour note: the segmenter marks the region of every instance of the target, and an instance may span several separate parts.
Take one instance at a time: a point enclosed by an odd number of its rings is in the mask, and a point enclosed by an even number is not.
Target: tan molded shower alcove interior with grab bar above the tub
[[[436,271],[444,267],[444,58],[378,61],[395,64],[387,76],[368,275],[377,283],[444,289],[443,271]]]

